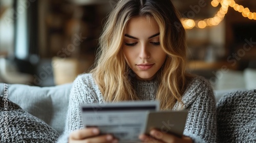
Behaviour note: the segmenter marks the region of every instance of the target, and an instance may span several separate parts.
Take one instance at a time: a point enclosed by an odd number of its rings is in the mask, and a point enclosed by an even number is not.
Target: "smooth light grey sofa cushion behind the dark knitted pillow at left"
[[[11,84],[7,87],[8,99],[46,122],[58,133],[63,132],[72,83],[52,87],[23,84]],[[0,93],[4,94],[3,83],[0,84]]]

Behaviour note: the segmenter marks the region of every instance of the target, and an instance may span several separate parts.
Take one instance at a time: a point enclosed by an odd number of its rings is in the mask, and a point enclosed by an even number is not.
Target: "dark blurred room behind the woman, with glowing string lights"
[[[117,1],[0,0],[0,82],[54,86],[87,73]],[[256,67],[254,1],[172,2],[187,32],[191,73],[216,87],[223,74]]]

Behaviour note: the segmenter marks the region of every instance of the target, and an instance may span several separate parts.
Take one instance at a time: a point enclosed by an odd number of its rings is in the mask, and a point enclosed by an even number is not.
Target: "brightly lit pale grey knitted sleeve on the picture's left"
[[[68,142],[69,134],[75,130],[83,128],[80,105],[83,103],[95,103],[97,97],[93,91],[93,83],[89,79],[89,74],[80,75],[73,82],[70,92],[69,107],[66,116],[65,129],[59,137],[59,143]]]

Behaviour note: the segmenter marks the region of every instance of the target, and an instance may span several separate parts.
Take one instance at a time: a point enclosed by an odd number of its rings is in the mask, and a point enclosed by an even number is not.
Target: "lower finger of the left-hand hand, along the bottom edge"
[[[116,143],[118,142],[117,139],[115,139],[112,135],[100,135],[95,136],[92,138],[84,139],[85,142],[95,142],[95,143],[103,143],[103,142],[110,142],[110,143]]]

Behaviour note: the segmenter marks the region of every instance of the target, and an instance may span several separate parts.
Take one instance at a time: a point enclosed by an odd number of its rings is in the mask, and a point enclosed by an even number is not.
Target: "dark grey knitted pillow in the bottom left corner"
[[[0,142],[56,142],[56,130],[6,100],[0,96]]]

